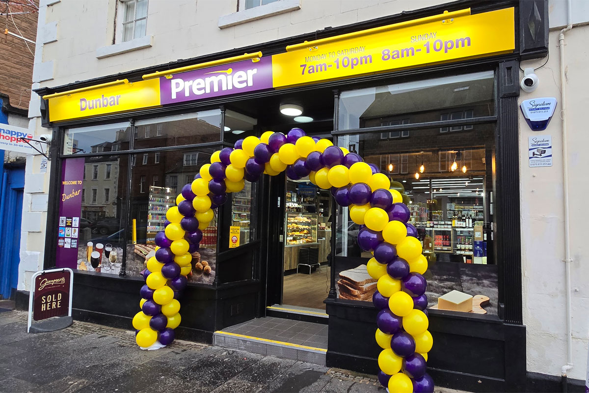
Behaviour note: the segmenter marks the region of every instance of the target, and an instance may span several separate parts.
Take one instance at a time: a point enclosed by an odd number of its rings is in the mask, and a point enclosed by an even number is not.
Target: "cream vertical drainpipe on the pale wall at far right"
[[[567,80],[565,76],[564,61],[564,34],[573,28],[571,0],[567,0],[567,27],[558,35],[558,48],[560,50],[560,87],[561,87],[561,119],[562,119],[562,190],[564,196],[564,266],[565,266],[565,291],[567,296],[567,364],[561,368],[562,391],[567,392],[567,373],[573,368],[573,313],[571,311],[571,245],[568,213],[568,149],[567,149]]]

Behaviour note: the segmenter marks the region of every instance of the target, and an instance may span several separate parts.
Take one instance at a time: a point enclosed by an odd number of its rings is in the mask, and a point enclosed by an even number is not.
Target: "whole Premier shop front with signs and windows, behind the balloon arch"
[[[436,384],[525,389],[518,62],[547,48],[520,32],[525,2],[468,5],[40,92],[55,141],[45,267],[75,269],[75,317],[130,328],[184,185],[214,151],[300,127],[403,194],[428,257]],[[374,374],[376,281],[359,230],[308,177],[246,181],[191,250],[177,336],[212,342],[266,315],[325,323],[327,365]],[[474,296],[472,312],[438,308],[454,290]]]

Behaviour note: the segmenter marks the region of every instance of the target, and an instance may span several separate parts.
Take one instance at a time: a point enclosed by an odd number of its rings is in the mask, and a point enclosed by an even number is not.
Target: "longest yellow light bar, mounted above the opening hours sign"
[[[416,26],[416,25],[423,25],[423,24],[426,24],[429,22],[444,21],[442,23],[449,24],[449,23],[453,22],[454,18],[458,18],[459,16],[467,16],[470,14],[471,14],[470,8],[461,9],[459,11],[452,11],[452,12],[444,11],[444,14],[440,14],[440,15],[425,16],[425,18],[413,19],[411,21],[399,22],[399,23],[395,23],[392,25],[375,27],[372,29],[356,31],[353,33],[348,33],[348,34],[336,35],[335,37],[315,39],[314,41],[305,41],[305,42],[302,42],[301,44],[288,45],[286,47],[286,51],[291,52],[291,51],[297,51],[299,49],[315,48],[315,47],[318,47],[319,45],[330,44],[332,42],[337,42],[337,41],[343,41],[344,39],[358,38],[358,37],[363,37],[365,35],[377,34],[377,33],[382,33],[385,31],[397,30],[397,29],[402,29],[405,27],[411,27],[411,26]],[[310,49],[310,50],[312,50],[312,49]]]

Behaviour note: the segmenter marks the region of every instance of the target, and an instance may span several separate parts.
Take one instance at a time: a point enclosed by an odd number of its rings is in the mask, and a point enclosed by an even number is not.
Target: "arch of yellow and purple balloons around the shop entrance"
[[[350,219],[360,225],[358,243],[371,252],[368,273],[377,279],[373,302],[378,313],[376,342],[380,383],[391,392],[433,392],[426,374],[432,348],[428,329],[422,255],[417,231],[409,224],[409,209],[401,193],[391,189],[389,177],[355,153],[333,146],[327,139],[308,137],[300,128],[285,136],[267,131],[249,136],[211,155],[191,184],[166,213],[166,227],[155,236],[155,256],[143,270],[141,311],[133,318],[135,339],[142,348],[166,346],[180,325],[177,298],[191,271],[191,253],[198,249],[202,230],[213,220],[213,209],[239,192],[244,181],[282,171],[293,180],[309,176],[321,189],[330,189],[340,206],[349,207]]]

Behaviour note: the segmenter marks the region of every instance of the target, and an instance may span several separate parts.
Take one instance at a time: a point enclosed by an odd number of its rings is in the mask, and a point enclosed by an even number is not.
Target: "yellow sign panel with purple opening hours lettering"
[[[514,23],[514,8],[506,8],[273,55],[273,86],[509,53],[515,49]]]

